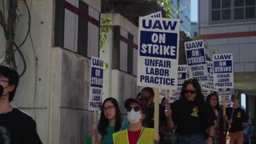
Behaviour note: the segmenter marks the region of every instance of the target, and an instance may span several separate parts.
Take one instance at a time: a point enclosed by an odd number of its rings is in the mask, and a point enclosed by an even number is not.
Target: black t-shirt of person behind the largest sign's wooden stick
[[[154,128],[154,113],[155,108],[146,108],[146,117],[143,120],[144,127]],[[164,127],[166,122],[165,106],[159,104],[159,128]]]

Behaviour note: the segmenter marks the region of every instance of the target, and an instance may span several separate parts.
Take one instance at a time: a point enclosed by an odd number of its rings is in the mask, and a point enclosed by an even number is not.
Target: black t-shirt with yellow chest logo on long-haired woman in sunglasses
[[[176,100],[171,106],[172,119],[179,135],[205,133],[214,125],[213,109],[203,101]]]

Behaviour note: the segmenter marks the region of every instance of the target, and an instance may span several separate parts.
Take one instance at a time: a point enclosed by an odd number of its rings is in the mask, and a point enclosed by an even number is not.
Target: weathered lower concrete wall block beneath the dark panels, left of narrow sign
[[[51,73],[51,143],[84,143],[93,112],[88,111],[90,59],[53,48]]]

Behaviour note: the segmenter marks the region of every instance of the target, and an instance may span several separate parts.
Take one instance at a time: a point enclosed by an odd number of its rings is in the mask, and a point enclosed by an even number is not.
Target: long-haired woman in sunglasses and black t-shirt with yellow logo
[[[177,125],[178,144],[212,144],[214,139],[213,110],[211,106],[205,104],[199,82],[194,77],[184,81],[181,96],[171,105],[171,110],[166,108],[166,116],[170,115],[174,124]],[[203,135],[206,129],[209,129],[210,134],[205,141]]]

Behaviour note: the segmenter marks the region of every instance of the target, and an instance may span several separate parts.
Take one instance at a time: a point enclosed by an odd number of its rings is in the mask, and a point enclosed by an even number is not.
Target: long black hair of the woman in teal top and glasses
[[[118,101],[114,98],[107,98],[104,100],[102,104],[100,122],[98,123],[98,130],[101,132],[102,135],[107,134],[107,127],[109,125],[109,121],[104,115],[104,110],[103,110],[103,107],[106,101],[111,101],[115,106],[115,132],[117,132],[121,128],[121,112],[119,109]]]

